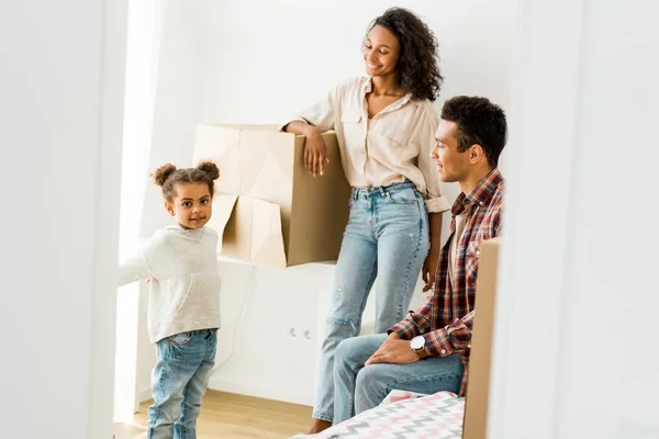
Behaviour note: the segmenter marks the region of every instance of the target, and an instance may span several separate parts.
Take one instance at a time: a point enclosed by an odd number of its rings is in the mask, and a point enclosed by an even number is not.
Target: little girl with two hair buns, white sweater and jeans
[[[177,225],[150,237],[120,266],[120,284],[149,279],[148,334],[156,344],[148,439],[196,438],[201,398],[215,362],[220,327],[217,234],[211,218],[217,167],[167,164],[152,173]]]

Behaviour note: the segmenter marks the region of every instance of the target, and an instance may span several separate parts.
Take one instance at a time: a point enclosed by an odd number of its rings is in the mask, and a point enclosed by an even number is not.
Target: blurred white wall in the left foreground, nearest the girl
[[[2,437],[110,439],[124,1],[0,5]]]

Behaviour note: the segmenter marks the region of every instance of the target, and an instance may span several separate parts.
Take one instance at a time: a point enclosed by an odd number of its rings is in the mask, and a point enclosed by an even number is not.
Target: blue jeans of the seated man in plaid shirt
[[[344,340],[334,360],[334,424],[371,409],[394,389],[433,394],[458,393],[462,380],[459,354],[431,357],[411,364],[378,363],[365,367],[387,335]]]

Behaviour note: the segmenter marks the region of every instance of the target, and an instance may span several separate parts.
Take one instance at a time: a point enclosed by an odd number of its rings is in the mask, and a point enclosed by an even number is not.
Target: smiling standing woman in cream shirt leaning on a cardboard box
[[[332,425],[334,351],[359,335],[376,278],[376,333],[404,317],[422,268],[424,291],[432,286],[448,210],[431,161],[439,122],[431,102],[443,80],[433,32],[410,11],[389,9],[369,26],[362,54],[367,77],[339,85],[283,127],[306,136],[314,177],[330,162],[321,133],[335,130],[353,187],[310,432]]]

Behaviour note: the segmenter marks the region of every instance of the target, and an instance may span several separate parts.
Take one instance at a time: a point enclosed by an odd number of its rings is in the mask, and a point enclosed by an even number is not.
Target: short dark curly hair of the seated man
[[[471,145],[483,148],[488,164],[495,168],[506,143],[507,125],[501,106],[480,97],[455,97],[444,103],[442,119],[458,125],[458,151]]]

